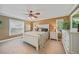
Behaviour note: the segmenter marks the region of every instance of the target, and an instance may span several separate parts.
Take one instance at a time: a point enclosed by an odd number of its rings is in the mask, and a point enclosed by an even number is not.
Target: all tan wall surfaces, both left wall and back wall
[[[69,16],[63,16],[63,17],[58,17],[58,18],[63,18],[64,21],[69,21]],[[45,19],[45,20],[40,20],[40,21],[36,21],[36,22],[25,21],[25,24],[30,24],[31,30],[33,29],[34,23],[35,24],[49,24],[49,26],[50,26],[49,30],[55,32],[56,31],[56,29],[55,29],[56,28],[56,19],[58,19],[58,18]],[[0,20],[2,20],[4,22],[2,27],[0,27],[0,40],[22,35],[22,34],[18,34],[18,35],[9,36],[9,31],[8,31],[9,30],[9,17],[0,15]]]

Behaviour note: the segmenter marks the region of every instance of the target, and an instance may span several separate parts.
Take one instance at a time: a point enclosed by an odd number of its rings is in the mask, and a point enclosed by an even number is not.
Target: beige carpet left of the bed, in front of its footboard
[[[0,43],[0,53],[2,54],[34,54],[35,48],[22,42],[20,39]]]

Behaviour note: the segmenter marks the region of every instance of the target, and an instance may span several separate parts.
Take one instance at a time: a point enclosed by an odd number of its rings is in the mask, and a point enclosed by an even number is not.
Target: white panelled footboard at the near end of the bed
[[[39,40],[39,36],[32,36],[32,35],[24,35],[23,36],[23,41],[34,46],[36,48],[36,50],[38,50],[38,40]]]

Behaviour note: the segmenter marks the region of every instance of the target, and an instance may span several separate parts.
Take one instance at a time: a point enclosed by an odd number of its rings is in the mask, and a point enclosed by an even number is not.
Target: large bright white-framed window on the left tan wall
[[[24,33],[24,21],[9,19],[9,35]]]

